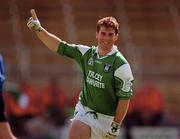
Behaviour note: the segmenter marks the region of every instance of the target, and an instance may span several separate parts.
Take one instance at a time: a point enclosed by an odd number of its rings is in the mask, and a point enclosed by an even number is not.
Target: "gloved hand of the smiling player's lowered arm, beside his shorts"
[[[120,124],[113,121],[111,124],[111,129],[107,132],[105,138],[116,139],[117,136],[119,135],[119,128],[120,128]]]

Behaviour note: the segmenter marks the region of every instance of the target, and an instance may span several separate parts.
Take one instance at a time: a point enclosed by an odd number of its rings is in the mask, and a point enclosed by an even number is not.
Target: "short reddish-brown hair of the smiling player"
[[[104,17],[97,22],[96,31],[99,32],[100,27],[104,26],[106,28],[113,28],[115,33],[118,34],[119,24],[114,17]]]

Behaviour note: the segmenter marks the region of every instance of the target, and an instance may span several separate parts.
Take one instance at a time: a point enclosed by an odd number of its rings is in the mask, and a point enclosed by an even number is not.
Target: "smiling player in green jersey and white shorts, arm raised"
[[[132,95],[131,68],[114,43],[119,24],[113,17],[97,22],[97,47],[68,44],[46,31],[35,11],[27,26],[52,51],[73,58],[83,73],[83,87],[68,139],[115,139]]]

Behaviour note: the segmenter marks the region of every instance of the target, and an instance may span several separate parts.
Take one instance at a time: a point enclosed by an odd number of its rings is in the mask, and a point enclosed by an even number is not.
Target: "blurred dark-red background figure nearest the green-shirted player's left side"
[[[57,78],[52,77],[49,81],[49,84],[42,89],[40,94],[42,113],[52,118],[54,125],[62,126],[67,118],[68,100]]]

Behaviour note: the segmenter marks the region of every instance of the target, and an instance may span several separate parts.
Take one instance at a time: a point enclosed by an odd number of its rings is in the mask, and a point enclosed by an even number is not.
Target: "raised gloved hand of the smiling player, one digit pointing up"
[[[42,31],[42,27],[41,27],[41,24],[37,18],[37,15],[35,13],[35,10],[34,9],[31,9],[31,16],[27,22],[27,26],[29,29],[31,30],[34,30],[34,31],[39,31],[41,32]]]

